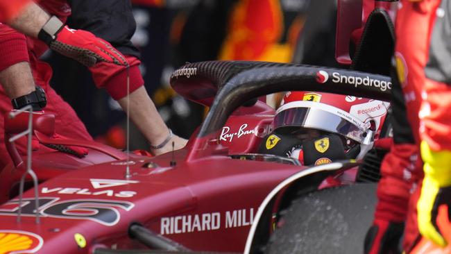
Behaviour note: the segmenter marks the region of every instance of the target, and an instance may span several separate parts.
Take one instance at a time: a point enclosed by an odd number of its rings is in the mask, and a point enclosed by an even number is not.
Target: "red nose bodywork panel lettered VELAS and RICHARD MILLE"
[[[195,250],[242,251],[259,203],[280,181],[303,169],[226,156],[187,163],[182,162],[184,153],[176,152],[175,167],[168,167],[171,155],[133,160],[128,179],[124,163],[117,162],[69,171],[39,186],[40,224],[35,223],[33,202],[26,202],[17,223],[12,212],[16,200],[0,206],[0,225],[42,237],[40,253],[88,253],[77,246],[76,233],[87,246],[129,248],[133,242],[126,232],[133,221]],[[160,167],[143,167],[148,162]],[[32,190],[24,199],[33,199]]]

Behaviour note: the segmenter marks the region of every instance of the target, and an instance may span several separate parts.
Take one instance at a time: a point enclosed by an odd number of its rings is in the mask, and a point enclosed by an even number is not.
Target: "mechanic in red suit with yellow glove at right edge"
[[[366,253],[395,251],[397,240],[393,235],[399,238],[399,224],[406,214],[403,242],[406,253],[451,251],[448,245],[451,240],[450,223],[447,214],[441,210],[443,207],[449,209],[451,203],[451,90],[447,85],[451,83],[451,72],[446,69],[447,60],[451,59],[447,46],[450,8],[449,1],[400,2],[395,22],[395,59],[416,147],[406,146],[407,150],[402,151],[395,140],[390,158],[403,153],[404,160],[411,160],[411,164],[392,162],[398,167],[386,166],[390,169],[385,172],[389,173],[386,178],[391,178],[391,183],[388,180],[383,182],[383,176],[378,186],[379,203],[374,226],[379,229],[368,232],[372,236],[368,238],[367,235],[366,244],[373,244],[366,246]],[[414,156],[418,146],[423,167],[418,167],[421,160]],[[410,158],[406,157],[409,153]],[[388,164],[390,160],[386,159],[384,163]],[[380,209],[382,207],[386,209]],[[445,219],[437,219],[442,215]]]

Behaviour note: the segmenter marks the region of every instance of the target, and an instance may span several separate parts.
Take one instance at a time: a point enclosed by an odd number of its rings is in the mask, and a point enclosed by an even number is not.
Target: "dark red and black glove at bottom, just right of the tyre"
[[[395,223],[375,219],[373,226],[366,232],[365,254],[401,253],[400,239],[404,231],[404,223]]]

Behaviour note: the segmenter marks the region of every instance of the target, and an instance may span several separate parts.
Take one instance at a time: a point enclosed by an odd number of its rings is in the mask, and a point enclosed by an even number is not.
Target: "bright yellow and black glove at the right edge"
[[[421,187],[418,210],[418,230],[423,237],[444,247],[448,245],[437,225],[437,215],[441,205],[448,206],[448,219],[451,220],[451,151],[432,151],[426,142],[421,143],[421,156],[424,161],[425,178]]]

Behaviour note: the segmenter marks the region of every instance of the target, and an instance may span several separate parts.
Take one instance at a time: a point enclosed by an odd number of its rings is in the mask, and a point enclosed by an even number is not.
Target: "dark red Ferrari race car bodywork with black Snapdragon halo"
[[[333,78],[337,75],[343,78]],[[132,225],[195,251],[243,252],[264,198],[307,167],[289,158],[249,155],[271,132],[274,111],[261,102],[240,106],[264,94],[291,90],[388,101],[391,89],[386,76],[358,71],[216,61],[181,67],[171,77],[171,85],[187,99],[211,108],[185,149],[155,158],[130,155],[127,160],[126,153],[99,144],[52,140],[43,134],[42,122],[34,121],[41,143],[83,146],[90,152],[84,158],[60,151],[33,153],[33,169],[40,179],[38,196],[28,189],[22,202],[16,194],[25,163],[17,159],[17,167],[11,164],[1,171],[5,203],[0,205],[0,253],[146,248]],[[8,130],[19,133],[17,126]],[[309,169],[319,173],[298,187],[317,189],[321,183],[327,187],[323,180],[332,175],[335,184],[341,179],[352,181],[355,170],[343,171],[353,166],[334,163]],[[263,228],[269,232],[272,225]]]

